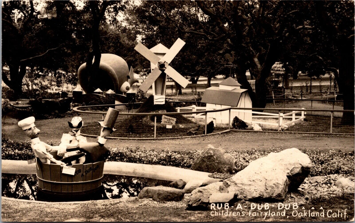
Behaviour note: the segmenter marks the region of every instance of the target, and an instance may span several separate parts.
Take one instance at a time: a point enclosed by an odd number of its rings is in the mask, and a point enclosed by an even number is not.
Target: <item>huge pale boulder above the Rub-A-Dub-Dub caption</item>
[[[297,148],[270,153],[223,181],[223,192],[236,192],[244,200],[284,200],[296,190],[312,168],[310,158]]]

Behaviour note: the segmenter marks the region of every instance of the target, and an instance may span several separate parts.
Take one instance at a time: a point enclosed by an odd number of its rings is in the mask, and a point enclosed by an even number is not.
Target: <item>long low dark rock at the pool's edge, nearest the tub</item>
[[[138,194],[138,198],[152,198],[154,201],[181,201],[184,194],[184,190],[172,187],[144,187]]]

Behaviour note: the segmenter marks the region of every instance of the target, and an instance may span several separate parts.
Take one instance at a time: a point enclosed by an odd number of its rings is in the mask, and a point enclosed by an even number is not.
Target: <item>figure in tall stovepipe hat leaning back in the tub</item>
[[[62,147],[58,150],[58,154],[77,151],[85,153],[85,163],[94,163],[103,161],[108,158],[110,151],[104,146],[109,136],[116,129],[114,127],[116,119],[118,117],[119,110],[109,108],[104,120],[98,121],[101,126],[100,136],[97,142],[78,142],[77,146]]]

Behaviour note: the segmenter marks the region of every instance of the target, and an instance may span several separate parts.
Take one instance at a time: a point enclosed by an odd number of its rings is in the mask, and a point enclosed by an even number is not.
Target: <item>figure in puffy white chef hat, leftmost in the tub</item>
[[[34,117],[28,117],[26,119],[22,119],[17,124],[22,128],[22,130],[26,133],[28,137],[31,138],[31,148],[36,157],[43,163],[56,163],[60,165],[65,165],[64,162],[58,161],[53,158],[53,156],[48,153],[50,151],[59,150],[63,146],[51,146],[45,142],[40,141],[38,135],[40,130],[37,129],[36,125],[34,124]],[[64,147],[63,147],[64,148]],[[63,149],[62,148],[62,149]]]

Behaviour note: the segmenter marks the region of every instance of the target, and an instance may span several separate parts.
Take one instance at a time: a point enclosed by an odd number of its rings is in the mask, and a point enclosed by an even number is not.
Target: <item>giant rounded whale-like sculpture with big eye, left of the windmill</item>
[[[95,76],[89,76],[86,63],[82,64],[78,69],[78,79],[85,93],[93,93],[100,88],[103,91],[114,89],[116,94],[123,94],[138,82],[127,62],[115,54],[101,54],[99,72]]]

